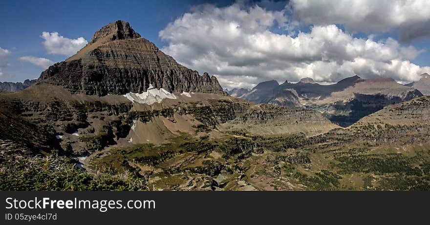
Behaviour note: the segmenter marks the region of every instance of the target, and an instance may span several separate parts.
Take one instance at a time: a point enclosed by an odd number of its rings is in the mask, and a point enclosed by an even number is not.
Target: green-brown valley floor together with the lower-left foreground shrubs
[[[2,190],[430,190],[429,137],[427,124],[363,125],[313,137],[184,133],[169,143],[94,153],[86,172],[64,157],[3,160],[0,184]]]

